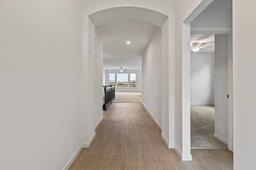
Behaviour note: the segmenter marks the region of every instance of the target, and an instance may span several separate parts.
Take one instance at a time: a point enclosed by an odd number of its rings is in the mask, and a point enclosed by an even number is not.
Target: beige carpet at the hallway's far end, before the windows
[[[141,103],[141,92],[116,92],[114,103]]]

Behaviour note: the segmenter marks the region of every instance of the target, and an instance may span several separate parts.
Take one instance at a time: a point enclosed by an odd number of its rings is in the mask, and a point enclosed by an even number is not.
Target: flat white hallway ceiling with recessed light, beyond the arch
[[[100,25],[103,33],[104,68],[141,70],[142,54],[156,27],[150,23],[131,20]],[[130,41],[130,44],[127,44],[127,41]]]

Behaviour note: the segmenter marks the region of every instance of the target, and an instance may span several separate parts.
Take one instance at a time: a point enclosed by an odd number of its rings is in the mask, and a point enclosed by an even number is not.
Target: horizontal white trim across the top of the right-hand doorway
[[[191,33],[230,33],[232,32],[232,27],[190,27]]]

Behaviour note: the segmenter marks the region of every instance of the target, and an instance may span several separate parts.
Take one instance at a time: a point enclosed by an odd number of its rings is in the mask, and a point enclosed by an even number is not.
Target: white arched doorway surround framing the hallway
[[[84,101],[87,102],[84,106],[84,110],[89,114],[85,116],[84,121],[88,121],[90,119],[95,121],[88,122],[86,127],[84,127],[85,131],[88,131],[88,134],[84,136],[84,141],[88,142],[84,146],[90,145],[90,142],[95,136],[95,124],[98,125],[102,120],[102,115],[100,113],[93,114],[96,109],[102,105],[102,83],[99,84],[99,86],[90,86],[90,88],[88,88],[89,85],[87,84],[88,80],[93,82],[102,82],[102,76],[99,76],[102,74],[102,52],[99,52],[102,51],[102,34],[96,34],[97,27],[110,21],[113,22],[116,20],[126,19],[147,22],[162,28],[162,67],[158,74],[158,76],[162,77],[160,82],[162,102],[159,103],[159,107],[161,107],[162,112],[160,113],[161,115],[158,121],[162,128],[162,138],[169,148],[174,148],[174,100],[172,97],[174,96],[174,86],[172,85],[174,72],[172,69],[173,55],[170,52],[170,48],[173,48],[170,45],[170,43],[172,43],[172,39],[170,39],[172,35],[172,33],[170,33],[172,30],[170,28],[172,20],[160,12],[138,7],[108,8],[106,10],[90,14],[86,19],[87,22],[84,25],[85,28],[88,27],[88,29],[86,29],[84,33],[84,39],[88,38],[88,41],[84,42],[85,50],[83,64],[85,64],[85,70],[83,76],[83,87],[84,89],[89,90],[84,91],[83,98]],[[99,45],[95,45],[96,41],[98,41]],[[88,96],[94,97],[89,99]]]

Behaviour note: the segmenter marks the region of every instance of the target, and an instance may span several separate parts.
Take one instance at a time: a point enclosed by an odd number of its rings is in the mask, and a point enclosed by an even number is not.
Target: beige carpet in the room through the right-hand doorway
[[[214,137],[214,106],[190,107],[191,148],[227,148]]]

